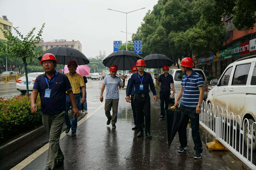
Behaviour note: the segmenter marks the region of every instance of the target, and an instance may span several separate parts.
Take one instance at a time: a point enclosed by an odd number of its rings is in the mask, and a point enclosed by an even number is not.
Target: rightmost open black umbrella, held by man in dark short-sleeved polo
[[[151,69],[160,69],[164,65],[171,66],[173,61],[163,54],[150,54],[144,58],[146,67]]]

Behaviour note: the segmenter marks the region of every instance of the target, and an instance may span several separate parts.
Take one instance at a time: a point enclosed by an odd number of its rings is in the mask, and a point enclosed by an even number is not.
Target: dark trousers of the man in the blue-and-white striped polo
[[[185,147],[187,146],[187,126],[188,121],[190,119],[191,121],[191,128],[192,128],[192,138],[195,144],[194,150],[196,152],[202,152],[202,140],[199,133],[199,114],[196,114],[196,108],[189,108],[185,107],[183,105],[180,106],[181,111],[181,117],[182,123],[180,125],[180,128],[178,130],[179,138],[180,138],[180,144],[181,146]]]

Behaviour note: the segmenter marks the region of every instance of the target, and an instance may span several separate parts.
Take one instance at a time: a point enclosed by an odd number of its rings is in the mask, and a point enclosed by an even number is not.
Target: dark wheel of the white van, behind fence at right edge
[[[249,121],[249,127],[248,127],[248,121]],[[253,151],[256,151],[256,124],[253,124],[255,122],[253,119],[249,119],[248,121],[245,122],[244,127],[246,127],[244,131],[244,141],[245,144],[247,145],[247,136],[248,136],[248,130],[249,134],[252,134],[253,141],[249,139],[249,149],[252,148]],[[253,124],[253,133],[252,133],[252,124]]]

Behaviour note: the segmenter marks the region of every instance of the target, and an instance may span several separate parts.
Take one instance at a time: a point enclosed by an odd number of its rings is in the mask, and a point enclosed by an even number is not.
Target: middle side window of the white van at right
[[[251,63],[237,65],[232,80],[232,85],[246,85]]]

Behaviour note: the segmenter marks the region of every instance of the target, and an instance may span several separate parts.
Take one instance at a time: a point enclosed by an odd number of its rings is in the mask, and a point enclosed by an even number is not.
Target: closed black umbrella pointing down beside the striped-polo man
[[[173,142],[174,136],[181,125],[181,113],[178,110],[166,110],[165,111],[166,128],[168,136],[168,149]]]

